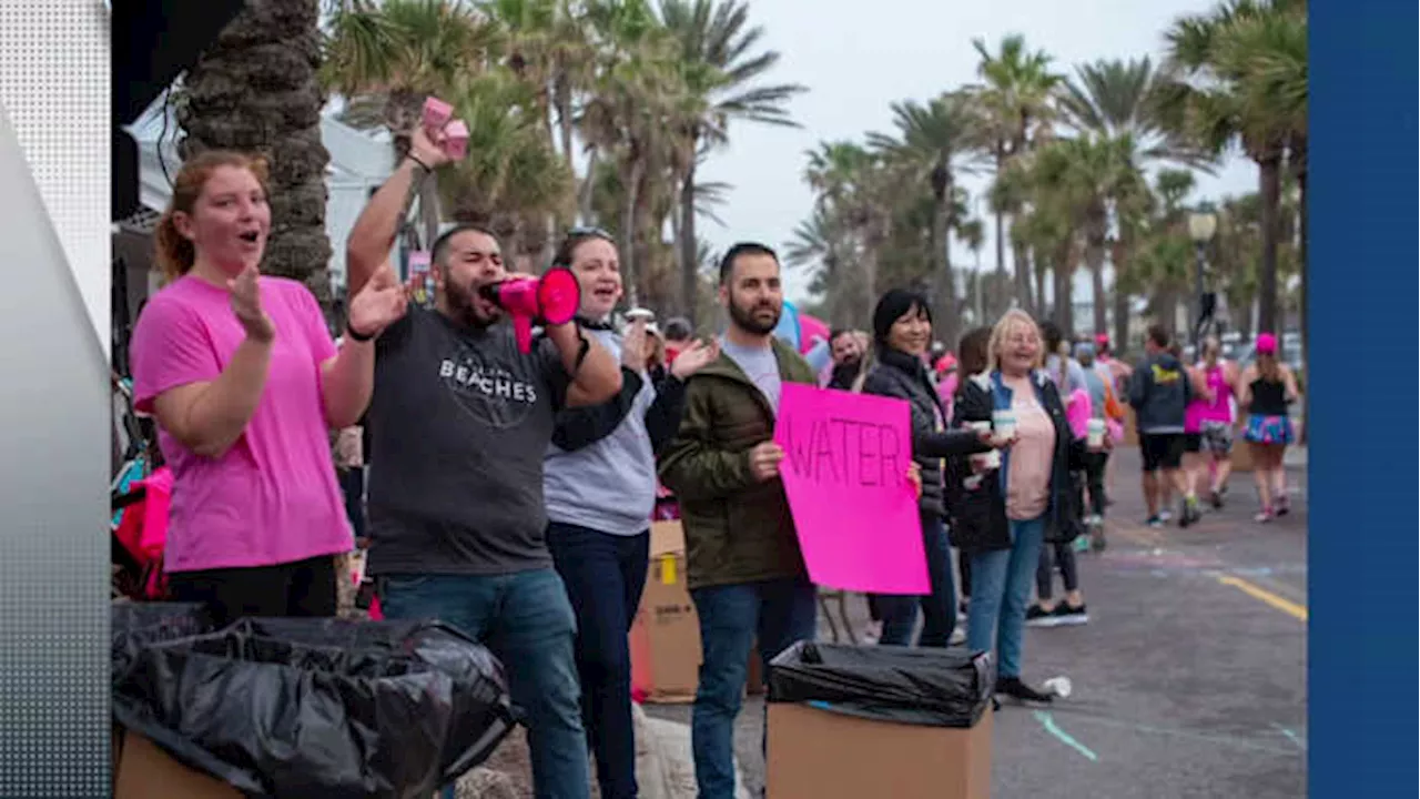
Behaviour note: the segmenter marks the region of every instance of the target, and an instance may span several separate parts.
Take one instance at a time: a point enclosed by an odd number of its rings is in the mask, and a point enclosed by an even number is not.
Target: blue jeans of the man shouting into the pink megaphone
[[[591,795],[586,734],[572,647],[577,620],[552,569],[513,574],[385,574],[386,618],[437,618],[503,661],[513,705],[524,714],[538,799]],[[453,796],[453,788],[444,790]]]

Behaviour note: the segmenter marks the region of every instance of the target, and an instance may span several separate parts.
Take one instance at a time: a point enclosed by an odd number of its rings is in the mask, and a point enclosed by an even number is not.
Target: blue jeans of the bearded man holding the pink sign
[[[690,591],[700,617],[700,687],[690,718],[699,799],[734,798],[734,718],[755,636],[767,664],[814,640],[818,593],[807,579],[709,586]]]

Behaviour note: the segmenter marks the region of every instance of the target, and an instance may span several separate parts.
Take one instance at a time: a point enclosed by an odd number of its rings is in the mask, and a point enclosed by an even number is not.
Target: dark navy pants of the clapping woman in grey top
[[[596,755],[596,782],[604,799],[636,799],[626,633],[646,587],[650,533],[613,536],[552,522],[547,545],[577,614],[582,724]]]

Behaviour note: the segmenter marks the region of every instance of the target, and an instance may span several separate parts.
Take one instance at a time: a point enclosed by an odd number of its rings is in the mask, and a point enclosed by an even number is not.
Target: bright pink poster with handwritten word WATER
[[[917,498],[907,482],[907,404],[784,384],[774,441],[799,549],[815,584],[927,594]]]

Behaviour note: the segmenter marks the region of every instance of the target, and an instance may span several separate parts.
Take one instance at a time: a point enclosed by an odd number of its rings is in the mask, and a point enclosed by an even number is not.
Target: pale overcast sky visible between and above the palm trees
[[[723,250],[737,240],[784,245],[812,205],[804,183],[804,152],[821,139],[861,138],[892,128],[889,104],[929,100],[977,80],[974,37],[997,51],[1001,37],[1025,36],[1052,54],[1061,71],[1096,58],[1152,55],[1162,60],[1163,31],[1181,14],[1206,11],[1211,0],[750,0],[750,17],[765,28],[764,47],[782,53],[774,82],[808,87],[792,104],[801,129],[740,124],[730,148],[700,175],[734,186],[719,210],[726,226],[701,222],[700,233]],[[961,181],[976,202],[987,176]],[[1234,158],[1216,176],[1198,175],[1197,198],[1257,188],[1257,169]],[[983,266],[994,264],[987,226]],[[1010,254],[1007,254],[1010,257]],[[953,262],[973,263],[953,242]],[[790,299],[802,300],[808,274],[788,273]],[[1088,283],[1088,276],[1081,280]],[[1083,297],[1076,289],[1076,297]]]

